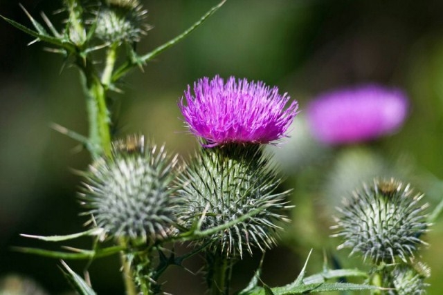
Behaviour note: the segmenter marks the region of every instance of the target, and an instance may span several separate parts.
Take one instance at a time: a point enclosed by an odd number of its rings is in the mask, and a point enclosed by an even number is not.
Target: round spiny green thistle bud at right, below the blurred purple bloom
[[[350,255],[360,253],[376,264],[410,260],[426,244],[421,240],[429,226],[424,213],[428,204],[419,204],[423,196],[398,180],[363,184],[363,189],[354,191],[353,198],[337,208],[341,216],[332,227],[338,229],[333,236],[345,241],[338,249],[350,248]]]

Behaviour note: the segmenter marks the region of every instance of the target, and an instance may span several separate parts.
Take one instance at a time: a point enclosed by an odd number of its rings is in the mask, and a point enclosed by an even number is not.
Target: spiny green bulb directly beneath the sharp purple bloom
[[[201,222],[204,231],[244,218],[198,243],[209,243],[210,251],[228,257],[270,248],[279,222],[287,221],[282,210],[288,191],[275,193],[280,184],[275,175],[258,145],[201,149],[181,176],[184,226]]]

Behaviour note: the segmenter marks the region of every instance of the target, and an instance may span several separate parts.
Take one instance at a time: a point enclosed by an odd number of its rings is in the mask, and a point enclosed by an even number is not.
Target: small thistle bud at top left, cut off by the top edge
[[[138,42],[149,29],[146,13],[138,0],[102,1],[96,12],[96,36],[111,44]]]

